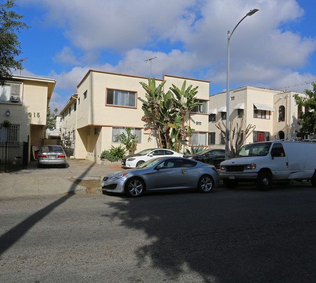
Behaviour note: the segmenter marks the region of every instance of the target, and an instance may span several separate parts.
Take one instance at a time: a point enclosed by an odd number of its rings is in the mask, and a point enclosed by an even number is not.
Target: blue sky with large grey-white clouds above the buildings
[[[0,0],[1,3],[6,0]],[[21,74],[56,79],[62,110],[88,70],[304,92],[316,81],[315,0],[16,0]],[[155,58],[148,60],[150,58]],[[147,61],[146,61],[147,60]],[[17,71],[15,73],[20,73]],[[180,87],[180,86],[179,86]]]

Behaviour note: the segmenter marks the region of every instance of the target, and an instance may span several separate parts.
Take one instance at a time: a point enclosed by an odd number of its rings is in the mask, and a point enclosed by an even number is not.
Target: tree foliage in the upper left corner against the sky
[[[11,9],[16,6],[16,0],[7,0],[0,4],[0,86],[12,77],[11,69],[22,70],[21,60],[16,57],[21,53],[17,32],[28,29],[29,26],[21,21],[23,16]]]

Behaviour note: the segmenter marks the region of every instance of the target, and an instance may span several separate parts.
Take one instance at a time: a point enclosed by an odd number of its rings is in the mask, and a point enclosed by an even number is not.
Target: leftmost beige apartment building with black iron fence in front
[[[31,147],[41,146],[45,138],[47,106],[55,83],[50,78],[13,75],[0,87],[0,123],[11,123],[8,128],[0,127],[0,146],[5,141],[29,142],[30,161]]]

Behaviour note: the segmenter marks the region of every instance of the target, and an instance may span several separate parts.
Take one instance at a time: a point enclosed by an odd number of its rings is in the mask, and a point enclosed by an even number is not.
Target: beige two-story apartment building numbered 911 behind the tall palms
[[[172,84],[181,88],[184,80],[187,87],[198,86],[196,99],[203,105],[196,107],[195,112],[191,113],[188,123],[194,132],[184,147],[195,144],[207,146],[210,82],[163,75],[162,79],[156,79],[156,86],[163,80],[166,80],[164,92],[167,92]],[[59,113],[62,117],[62,135],[73,144],[75,158],[100,163],[100,155],[104,150],[109,150],[111,145],[120,145],[116,142],[116,136],[123,133],[126,127],[131,127],[138,137],[136,152],[157,147],[155,129],[141,120],[145,116],[141,106],[147,102],[147,98],[140,82],[147,84],[148,79],[104,71],[88,71],[77,86],[77,93],[71,95]]]

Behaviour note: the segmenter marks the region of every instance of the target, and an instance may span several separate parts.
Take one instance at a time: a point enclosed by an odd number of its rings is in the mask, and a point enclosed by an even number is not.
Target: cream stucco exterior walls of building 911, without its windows
[[[167,80],[164,85],[164,92],[167,92],[172,84],[181,88],[185,78],[164,76]],[[209,100],[209,82],[193,79],[186,79],[187,87],[198,86],[197,99]],[[157,147],[158,141],[155,138],[155,130],[148,129],[148,124],[141,121],[144,111],[142,103],[147,102],[145,90],[140,82],[148,83],[144,77],[107,73],[101,71],[88,71],[77,87],[77,111],[73,115],[74,99],[64,106],[62,115],[62,128],[66,124],[76,125],[75,137],[75,158],[87,158],[94,162],[101,162],[100,155],[104,150],[109,150],[111,145],[117,147],[120,143],[112,142],[113,127],[132,127],[141,129],[141,142],[137,145],[136,152],[140,150]],[[156,79],[156,86],[162,80]],[[136,106],[115,106],[106,103],[107,89],[126,90],[136,92]],[[87,91],[87,98],[84,93]],[[73,97],[73,96],[72,96]],[[80,100],[80,103],[78,103]],[[70,116],[65,115],[71,106]],[[75,118],[74,118],[75,117]],[[196,123],[198,122],[198,123]],[[193,114],[190,125],[196,131],[208,132],[208,115]],[[95,128],[97,129],[95,132]],[[150,133],[150,134],[149,134]]]

